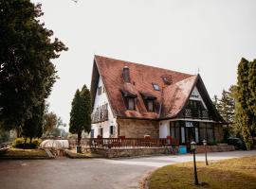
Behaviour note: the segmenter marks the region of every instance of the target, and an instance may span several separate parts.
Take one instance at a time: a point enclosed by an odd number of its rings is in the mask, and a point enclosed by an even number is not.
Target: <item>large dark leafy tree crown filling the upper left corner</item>
[[[39,120],[34,110],[45,103],[57,79],[51,60],[66,47],[52,41],[53,32],[40,23],[41,5],[0,0],[0,7],[1,126],[27,130],[28,120]]]

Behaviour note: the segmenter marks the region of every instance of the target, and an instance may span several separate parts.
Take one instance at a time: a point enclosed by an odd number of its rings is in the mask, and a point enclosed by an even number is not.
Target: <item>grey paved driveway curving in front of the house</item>
[[[210,153],[210,160],[256,155],[253,151]],[[197,160],[204,160],[198,154]],[[191,155],[158,156],[118,160],[30,160],[1,161],[2,189],[128,189],[137,188],[138,181],[157,167],[192,161]]]

